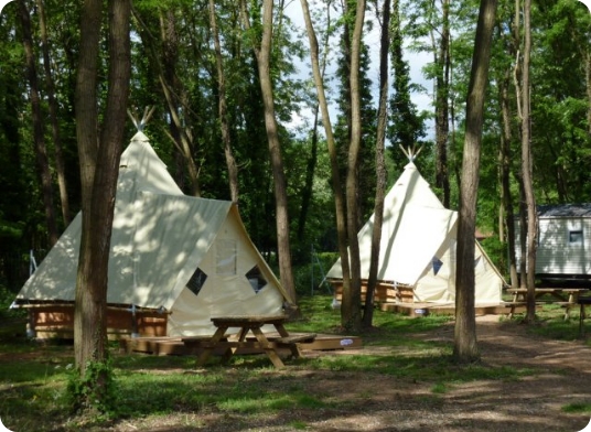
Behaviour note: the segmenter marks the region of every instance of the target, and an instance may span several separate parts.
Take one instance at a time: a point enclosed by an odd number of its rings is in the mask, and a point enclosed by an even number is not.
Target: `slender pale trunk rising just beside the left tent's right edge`
[[[246,4],[243,1],[243,15],[245,26],[250,28]],[[296,285],[293,283],[293,270],[291,268],[291,248],[289,238],[289,214],[286,174],[277,120],[275,118],[275,101],[270,71],[271,39],[273,25],[273,0],[262,2],[262,39],[260,46],[254,45],[259,72],[260,90],[262,94],[262,105],[265,107],[265,127],[267,129],[267,140],[271,158],[271,170],[275,184],[275,202],[277,218],[277,249],[279,256],[279,274],[281,284],[288,292],[291,300],[296,302]]]

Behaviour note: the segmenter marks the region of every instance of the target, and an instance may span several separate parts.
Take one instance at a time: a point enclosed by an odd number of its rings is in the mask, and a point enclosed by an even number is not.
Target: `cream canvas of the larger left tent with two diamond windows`
[[[17,302],[75,299],[80,214]],[[209,318],[281,313],[291,300],[251,242],[235,204],[183,195],[148,138],[121,155],[107,302],[164,311],[169,336],[212,334]]]

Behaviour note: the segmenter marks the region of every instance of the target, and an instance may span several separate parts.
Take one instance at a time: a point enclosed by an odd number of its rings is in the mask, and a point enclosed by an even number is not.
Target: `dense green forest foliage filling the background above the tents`
[[[75,125],[75,82],[80,51],[79,2],[22,0],[26,7],[30,31],[23,25],[20,2],[4,7],[0,17],[0,278],[18,290],[33,249],[37,260],[51,246],[47,216],[53,213],[61,233],[72,215],[82,207],[78,151]],[[131,13],[131,80],[129,109],[141,112],[154,107],[144,132],[165,161],[176,182],[187,194],[230,199],[226,142],[237,168],[240,214],[248,231],[271,263],[277,266],[276,202],[265,106],[259,82],[259,65],[252,41],[262,35],[262,1],[249,1],[250,24],[245,28],[240,2],[215,1],[219,54],[225,74],[225,121],[228,141],[222,134],[219,118],[218,67],[207,0],[166,0],[136,2]],[[459,184],[465,123],[465,100],[479,2],[409,1],[393,2],[397,8],[390,25],[389,110],[386,147],[388,179],[396,179],[406,163],[399,144],[423,147],[417,165],[443,201],[438,161],[441,148],[436,143],[434,119],[444,121],[445,175],[449,176],[449,205],[459,208]],[[508,106],[508,127],[513,131],[506,143],[508,190],[519,202],[517,173],[520,164],[520,133],[517,111],[517,58],[523,54],[523,35],[515,36],[515,1],[499,0],[493,34],[490,85],[486,89],[480,193],[476,225],[483,231],[504,233],[502,180],[498,152],[504,131],[503,89]],[[517,4],[520,4],[517,2]],[[301,10],[293,4],[273,2],[273,31],[269,53],[277,133],[283,158],[287,208],[294,266],[310,261],[310,247],[336,251],[334,197],[331,186],[330,158],[325,136],[310,112],[316,95],[309,71],[309,45]],[[373,213],[376,187],[375,145],[378,108],[378,63],[373,58],[375,29],[380,20],[380,2],[368,1],[359,53],[361,147],[358,170],[357,223]],[[448,8],[448,23],[442,22]],[[312,20],[316,29],[324,79],[334,116],[335,139],[340,149],[341,179],[346,179],[347,143],[351,137],[348,56],[354,29],[348,14],[351,4],[323,0],[315,2]],[[44,12],[44,14],[42,14]],[[44,22],[42,20],[44,18]],[[42,25],[44,24],[44,25]],[[440,41],[442,25],[449,25],[449,82],[447,91],[438,93],[441,75]],[[46,34],[44,34],[44,31]],[[348,29],[348,30],[347,30]],[[26,55],[26,33],[32,41],[32,56]],[[105,33],[105,32],[103,32]],[[540,204],[591,201],[591,15],[587,8],[571,0],[535,0],[531,4],[531,148],[533,185]],[[98,61],[98,104],[106,106],[108,58],[101,36]],[[410,67],[419,55],[431,61],[422,76]],[[31,63],[32,62],[32,63]],[[35,133],[34,105],[26,71],[34,64],[39,87],[41,134]],[[47,67],[49,66],[49,67]],[[427,80],[427,85],[419,84]],[[441,82],[439,84],[441,86]],[[419,97],[430,105],[417,106]],[[444,98],[441,99],[441,98]],[[55,106],[52,108],[52,98]],[[445,102],[448,110],[438,110]],[[52,125],[55,109],[55,125]],[[141,117],[139,115],[138,117]],[[103,119],[98,119],[101,121]],[[133,134],[127,123],[127,137]],[[58,136],[54,133],[58,131]],[[39,130],[37,130],[39,132]],[[57,142],[58,137],[58,142]],[[40,140],[46,144],[46,162],[40,162]],[[58,149],[60,145],[60,149]],[[440,149],[440,150],[438,150]],[[57,152],[57,150],[61,150]],[[439,154],[439,155],[438,155]],[[50,174],[50,188],[40,176],[40,163]],[[60,169],[60,164],[63,169]],[[67,194],[61,193],[63,171]],[[45,184],[45,187],[44,187]],[[444,184],[444,183],[442,183]],[[442,186],[443,187],[443,186]],[[53,194],[53,201],[45,199]],[[518,208],[513,208],[517,214]],[[497,238],[490,253],[503,271],[506,251]],[[499,246],[501,244],[501,246]],[[486,245],[485,245],[486,246]],[[491,246],[491,247],[492,247]],[[298,290],[305,290],[303,284]]]

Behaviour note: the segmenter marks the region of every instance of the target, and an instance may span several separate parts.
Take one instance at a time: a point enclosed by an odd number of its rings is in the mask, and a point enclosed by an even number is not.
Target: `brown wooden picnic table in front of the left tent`
[[[279,348],[287,347],[290,349],[293,357],[299,358],[302,356],[302,353],[298,346],[298,343],[304,341],[311,342],[316,336],[315,334],[300,334],[297,336],[290,336],[289,332],[283,326],[286,320],[286,315],[240,315],[212,317],[212,323],[217,327],[217,330],[211,339],[202,341],[200,343],[203,350],[197,358],[197,366],[204,366],[211,354],[216,348],[222,348],[224,350],[222,358],[223,363],[228,361],[238,348],[251,348],[262,349],[275,367],[284,367],[283,361],[277,353]],[[267,335],[261,331],[264,325],[273,325],[279,334],[279,337],[267,337]],[[239,332],[235,338],[227,336],[228,328],[239,328]],[[255,335],[254,339],[247,338],[249,333]]]

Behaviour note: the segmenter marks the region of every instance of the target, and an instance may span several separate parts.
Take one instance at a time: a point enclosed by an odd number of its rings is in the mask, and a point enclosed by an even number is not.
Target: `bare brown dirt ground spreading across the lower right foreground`
[[[433,382],[383,375],[301,370],[298,374],[310,395],[340,402],[350,399],[355,409],[298,409],[282,411],[281,417],[256,420],[227,413],[183,413],[160,419],[158,424],[149,420],[121,422],[111,430],[576,432],[589,423],[588,415],[569,414],[561,409],[567,404],[591,403],[591,348],[581,342],[526,335],[523,325],[498,322],[497,317],[479,318],[477,328],[485,364],[531,368],[535,372],[519,379],[452,385],[438,392],[433,390]],[[451,343],[453,324],[413,337]],[[363,348],[357,354],[388,355],[391,349]],[[270,372],[275,374],[284,371]]]

